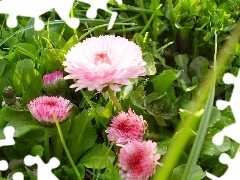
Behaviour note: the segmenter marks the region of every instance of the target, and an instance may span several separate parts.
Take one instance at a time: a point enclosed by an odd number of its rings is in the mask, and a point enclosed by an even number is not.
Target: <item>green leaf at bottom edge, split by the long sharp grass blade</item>
[[[186,167],[186,164],[182,164],[178,167],[176,167],[173,170],[173,174],[170,180],[179,180],[182,177],[182,174],[184,172],[184,169]],[[206,174],[203,172],[202,168],[200,166],[195,166],[192,172],[192,179],[191,180],[201,180],[206,176]]]

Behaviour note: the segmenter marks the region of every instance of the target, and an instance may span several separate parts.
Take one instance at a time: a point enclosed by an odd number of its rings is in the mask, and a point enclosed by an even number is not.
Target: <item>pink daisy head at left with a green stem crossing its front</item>
[[[59,122],[63,122],[68,118],[72,105],[62,97],[41,96],[31,101],[27,107],[39,122],[53,124],[52,113]]]

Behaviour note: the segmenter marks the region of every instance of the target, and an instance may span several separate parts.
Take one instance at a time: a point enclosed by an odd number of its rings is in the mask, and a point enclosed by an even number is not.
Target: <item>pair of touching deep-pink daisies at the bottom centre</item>
[[[120,112],[111,121],[106,133],[109,141],[115,141],[122,147],[119,153],[119,172],[123,179],[147,180],[155,173],[159,164],[160,154],[157,154],[157,143],[142,141],[145,124],[142,116],[131,109],[128,113]]]

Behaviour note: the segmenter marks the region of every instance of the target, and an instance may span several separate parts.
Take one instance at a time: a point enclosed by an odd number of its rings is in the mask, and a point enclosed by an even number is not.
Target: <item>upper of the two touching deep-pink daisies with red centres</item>
[[[111,122],[106,130],[109,141],[116,141],[116,145],[121,146],[132,140],[142,140],[145,133],[143,117],[137,116],[131,109],[128,113],[120,112]]]

